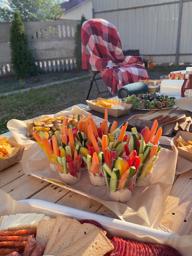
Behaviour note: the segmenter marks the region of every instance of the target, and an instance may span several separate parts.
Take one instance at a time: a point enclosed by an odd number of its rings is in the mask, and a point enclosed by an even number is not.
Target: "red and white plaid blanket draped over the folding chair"
[[[148,79],[140,56],[123,56],[119,33],[103,19],[91,19],[81,29],[82,68],[100,71],[112,94],[129,83]]]

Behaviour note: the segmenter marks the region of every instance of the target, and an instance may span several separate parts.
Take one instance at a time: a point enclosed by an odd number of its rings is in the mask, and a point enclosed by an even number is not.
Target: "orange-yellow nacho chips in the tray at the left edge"
[[[7,159],[13,157],[20,151],[20,147],[13,147],[7,143],[8,136],[0,136],[0,159]]]

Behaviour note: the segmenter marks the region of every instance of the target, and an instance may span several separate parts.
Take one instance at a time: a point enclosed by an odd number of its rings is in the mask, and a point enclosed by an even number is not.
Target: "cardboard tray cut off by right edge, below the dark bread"
[[[190,162],[192,162],[192,152],[188,152],[185,151],[179,147],[177,147],[177,141],[176,139],[178,139],[179,135],[181,135],[181,137],[183,139],[185,139],[185,141],[192,141],[192,132],[183,132],[183,131],[179,131],[176,133],[176,135],[172,138],[172,142],[174,143],[174,145],[176,146],[176,148],[178,149],[179,155],[187,160],[189,160]]]

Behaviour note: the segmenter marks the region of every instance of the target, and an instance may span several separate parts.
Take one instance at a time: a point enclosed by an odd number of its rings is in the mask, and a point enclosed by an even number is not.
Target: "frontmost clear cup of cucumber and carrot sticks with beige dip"
[[[118,169],[113,168],[111,170],[107,164],[103,164],[101,173],[105,177],[110,200],[125,203],[131,199],[137,173],[134,166],[120,177]]]

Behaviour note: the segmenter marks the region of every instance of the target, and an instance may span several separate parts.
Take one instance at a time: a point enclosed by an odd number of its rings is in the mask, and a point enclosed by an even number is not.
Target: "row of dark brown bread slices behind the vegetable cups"
[[[131,131],[131,128],[136,127],[138,132],[141,132],[145,126],[152,128],[154,120],[157,120],[159,126],[162,127],[162,135],[167,137],[174,137],[179,130],[192,132],[192,118],[186,117],[185,114],[177,115],[161,114],[160,112],[154,112],[151,115],[133,116],[128,120],[127,131]]]

